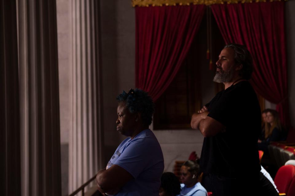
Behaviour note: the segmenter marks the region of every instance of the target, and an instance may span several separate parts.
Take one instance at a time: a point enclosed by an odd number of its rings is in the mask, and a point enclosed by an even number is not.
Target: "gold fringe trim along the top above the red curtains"
[[[132,0],[132,6],[148,7],[148,6],[188,6],[188,5],[206,5],[212,4],[231,4],[231,3],[258,3],[273,2],[287,0]]]

